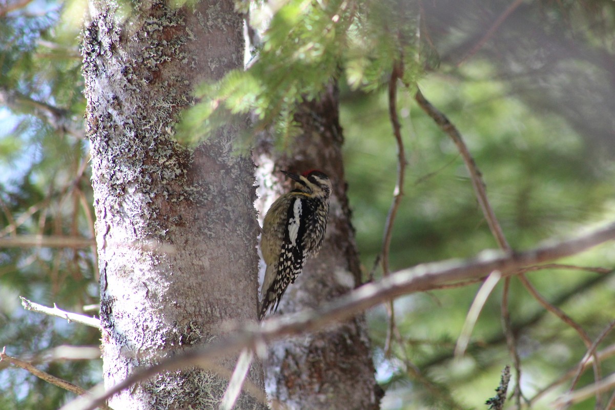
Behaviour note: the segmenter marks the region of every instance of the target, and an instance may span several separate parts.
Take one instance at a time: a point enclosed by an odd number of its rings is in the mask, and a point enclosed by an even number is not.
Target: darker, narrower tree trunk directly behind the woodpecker
[[[278,313],[320,306],[361,283],[344,182],[336,87],[331,85],[319,101],[301,104],[295,120],[302,133],[293,140],[292,152],[275,152],[265,138],[255,151],[261,212],[288,189],[287,184],[280,187],[283,180],[272,181],[271,175],[282,178],[278,170],[322,170],[333,181],[333,197],[322,250],[289,286]],[[383,395],[376,384],[363,315],[322,333],[276,343],[265,366],[268,393],[282,408],[378,409]]]

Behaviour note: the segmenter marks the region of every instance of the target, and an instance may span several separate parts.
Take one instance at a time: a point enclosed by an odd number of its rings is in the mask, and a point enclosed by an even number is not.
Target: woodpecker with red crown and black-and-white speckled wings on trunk
[[[327,229],[331,181],[318,170],[301,175],[282,171],[295,181],[294,189],[271,205],[263,221],[261,251],[267,264],[258,320],[275,312],[290,283],[303,270],[308,256],[320,250]]]

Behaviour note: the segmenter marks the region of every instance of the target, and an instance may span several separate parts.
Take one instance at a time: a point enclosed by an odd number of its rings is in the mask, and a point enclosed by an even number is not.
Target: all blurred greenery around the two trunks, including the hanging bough
[[[98,301],[79,55],[87,6],[76,0],[11,4],[0,5],[0,345],[12,356],[33,355],[39,368],[87,388],[101,380],[100,360],[46,361],[44,352],[64,344],[98,345],[98,331],[25,312],[18,299],[56,302],[75,312]],[[248,8],[247,2],[240,6]],[[346,179],[365,280],[382,274],[373,266],[397,173],[386,84],[399,58],[408,83],[399,84],[398,100],[408,166],[393,229],[392,271],[497,248],[462,159],[416,104],[415,84],[464,136],[515,250],[613,220],[613,1],[287,1],[251,8],[255,28],[268,28],[264,45],[256,47],[258,61],[247,73],[199,92],[220,97],[229,112],[254,110],[263,122],[276,121],[280,140],[288,142],[293,101],[317,95],[332,76],[338,79]],[[213,114],[197,107],[186,116],[193,127],[188,130],[213,127],[228,112]],[[15,238],[22,243],[15,245]],[[41,238],[47,242],[37,246]],[[67,238],[77,243],[62,245]],[[610,270],[613,244],[558,262]],[[528,277],[592,340],[614,319],[612,274],[546,269]],[[397,299],[400,339],[388,354],[386,310],[367,313],[377,377],[386,390],[383,409],[486,408],[502,368],[512,365],[502,332],[502,283],[486,302],[466,355],[452,357],[478,288]],[[517,280],[509,310],[522,391],[531,399],[576,366],[586,348]],[[614,343],[609,334],[598,350]],[[614,359],[605,357],[601,370],[613,373]],[[589,369],[577,387],[591,382]],[[71,397],[5,362],[0,386],[2,409],[55,409]],[[550,408],[569,386],[570,378],[531,408]],[[574,408],[594,406],[590,399]]]

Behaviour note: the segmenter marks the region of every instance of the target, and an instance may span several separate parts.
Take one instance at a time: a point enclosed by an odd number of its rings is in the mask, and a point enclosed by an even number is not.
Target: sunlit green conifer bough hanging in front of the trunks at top
[[[284,2],[249,68],[200,87],[201,102],[186,114],[180,139],[194,141],[233,114],[250,112],[256,130],[272,130],[285,146],[296,132],[297,104],[317,98],[343,73],[353,89],[376,90],[400,60],[406,68],[403,80],[413,84],[423,71],[416,52],[416,15],[416,6],[401,0]]]

